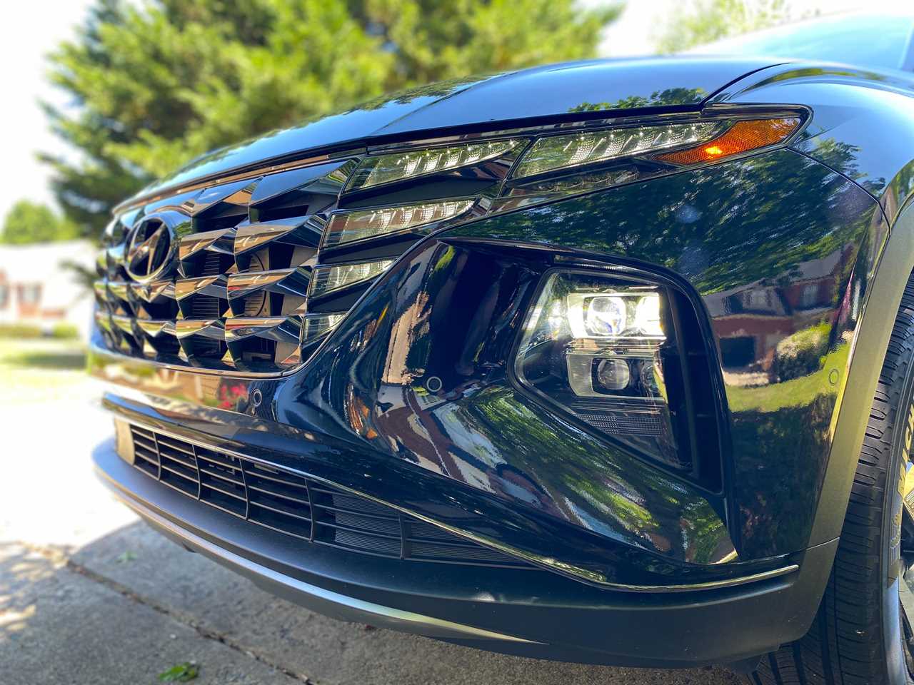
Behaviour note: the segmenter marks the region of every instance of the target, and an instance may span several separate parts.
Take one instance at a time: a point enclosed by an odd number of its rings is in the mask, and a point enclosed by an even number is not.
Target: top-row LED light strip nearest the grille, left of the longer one
[[[406,178],[436,174],[462,166],[500,157],[517,147],[522,139],[491,142],[469,142],[449,147],[435,147],[406,153],[368,157],[356,169],[348,190],[370,188],[402,181]]]

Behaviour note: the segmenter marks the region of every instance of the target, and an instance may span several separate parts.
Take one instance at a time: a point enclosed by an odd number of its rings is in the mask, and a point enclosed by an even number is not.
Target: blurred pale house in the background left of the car
[[[97,248],[88,240],[0,245],[0,324],[51,331],[58,323],[89,332],[92,293],[65,263],[94,269]]]

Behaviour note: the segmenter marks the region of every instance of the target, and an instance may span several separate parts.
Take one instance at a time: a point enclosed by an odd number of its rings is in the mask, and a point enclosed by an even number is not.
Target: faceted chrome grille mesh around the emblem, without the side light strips
[[[93,287],[106,345],[213,370],[276,373],[300,364],[298,311],[325,213],[354,167],[342,160],[216,184],[155,203],[149,218],[132,210],[113,222],[106,232],[113,244],[99,255]],[[288,218],[271,218],[273,205]],[[162,275],[158,268],[144,271],[146,282],[125,269],[126,248],[133,232],[151,221],[171,226],[168,254],[175,262]],[[149,254],[143,253],[141,267],[149,266]]]

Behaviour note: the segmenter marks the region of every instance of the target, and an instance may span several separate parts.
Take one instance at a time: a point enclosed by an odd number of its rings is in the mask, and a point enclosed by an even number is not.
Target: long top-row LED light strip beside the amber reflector
[[[548,136],[540,138],[527,151],[514,175],[516,178],[545,174],[708,141],[727,126],[727,121],[696,121]]]

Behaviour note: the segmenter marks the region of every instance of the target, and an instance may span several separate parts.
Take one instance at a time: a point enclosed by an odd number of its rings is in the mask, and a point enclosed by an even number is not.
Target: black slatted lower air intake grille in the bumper
[[[285,469],[132,426],[133,466],[221,511],[309,543],[392,559],[533,568],[364,497]]]

